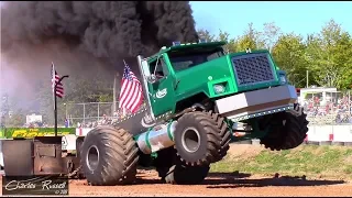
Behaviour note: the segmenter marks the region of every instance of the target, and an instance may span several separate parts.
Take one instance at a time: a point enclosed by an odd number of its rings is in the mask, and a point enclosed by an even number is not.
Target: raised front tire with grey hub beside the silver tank
[[[189,166],[209,165],[223,158],[230,139],[228,124],[211,111],[185,113],[174,133],[177,155]]]

